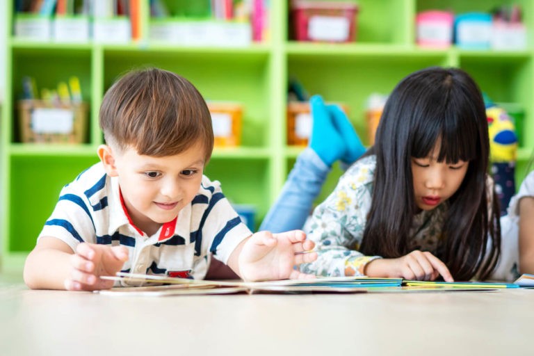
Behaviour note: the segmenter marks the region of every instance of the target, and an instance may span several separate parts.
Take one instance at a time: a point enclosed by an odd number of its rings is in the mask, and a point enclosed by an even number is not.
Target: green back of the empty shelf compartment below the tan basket
[[[8,244],[29,251],[58,201],[61,188],[96,163],[95,156],[10,156]]]

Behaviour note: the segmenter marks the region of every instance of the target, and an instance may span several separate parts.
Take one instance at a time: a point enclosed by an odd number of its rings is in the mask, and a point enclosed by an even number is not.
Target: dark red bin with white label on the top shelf
[[[349,1],[293,0],[293,39],[312,42],[353,42],[358,6]]]

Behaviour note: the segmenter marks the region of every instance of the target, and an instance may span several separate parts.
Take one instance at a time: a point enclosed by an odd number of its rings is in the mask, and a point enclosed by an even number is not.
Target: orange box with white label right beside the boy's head
[[[213,125],[214,145],[233,147],[241,144],[243,106],[236,103],[208,102]]]

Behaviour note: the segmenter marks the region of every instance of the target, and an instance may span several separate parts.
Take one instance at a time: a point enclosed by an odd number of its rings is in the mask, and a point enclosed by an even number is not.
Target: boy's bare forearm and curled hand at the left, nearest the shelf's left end
[[[42,236],[26,259],[24,282],[31,289],[108,289],[113,281],[101,280],[99,276],[115,275],[127,259],[124,246],[80,243],[73,252],[60,239]]]

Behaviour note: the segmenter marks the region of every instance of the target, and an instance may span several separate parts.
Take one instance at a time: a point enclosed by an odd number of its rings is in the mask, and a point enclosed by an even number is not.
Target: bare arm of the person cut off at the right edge
[[[534,273],[534,197],[519,202],[519,271]]]

